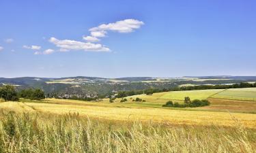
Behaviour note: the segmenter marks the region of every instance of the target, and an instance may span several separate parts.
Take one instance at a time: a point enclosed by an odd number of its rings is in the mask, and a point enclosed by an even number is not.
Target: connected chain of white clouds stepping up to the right
[[[89,29],[90,35],[83,36],[87,42],[57,39],[51,37],[49,41],[59,48],[59,52],[68,52],[70,50],[85,50],[93,52],[110,52],[111,50],[102,44],[96,44],[100,41],[99,37],[106,37],[108,31],[115,31],[118,33],[131,33],[135,29],[141,28],[144,22],[134,19],[119,20],[109,24],[100,24],[98,27]]]

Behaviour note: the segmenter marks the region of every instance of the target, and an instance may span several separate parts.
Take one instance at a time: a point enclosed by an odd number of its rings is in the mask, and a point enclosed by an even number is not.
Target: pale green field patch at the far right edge
[[[212,96],[212,98],[256,101],[256,88],[231,88]]]

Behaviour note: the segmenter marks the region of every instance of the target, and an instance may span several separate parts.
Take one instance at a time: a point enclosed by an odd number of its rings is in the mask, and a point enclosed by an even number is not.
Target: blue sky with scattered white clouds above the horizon
[[[256,1],[1,0],[0,77],[256,75]]]

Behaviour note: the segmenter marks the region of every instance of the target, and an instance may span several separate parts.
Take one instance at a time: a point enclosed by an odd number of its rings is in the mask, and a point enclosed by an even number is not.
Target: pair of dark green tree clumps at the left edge
[[[41,100],[45,96],[41,89],[25,89],[17,92],[14,86],[6,85],[0,87],[0,98],[5,101],[18,101],[19,98]]]

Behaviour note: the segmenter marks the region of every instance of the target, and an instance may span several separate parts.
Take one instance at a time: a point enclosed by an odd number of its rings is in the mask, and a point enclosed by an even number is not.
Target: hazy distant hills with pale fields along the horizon
[[[147,88],[175,88],[177,86],[195,86],[201,84],[235,84],[256,82],[256,76],[184,76],[181,78],[0,78],[0,86],[12,84],[18,90],[23,88],[41,88],[46,93],[57,95],[106,95],[119,90],[144,90]]]

